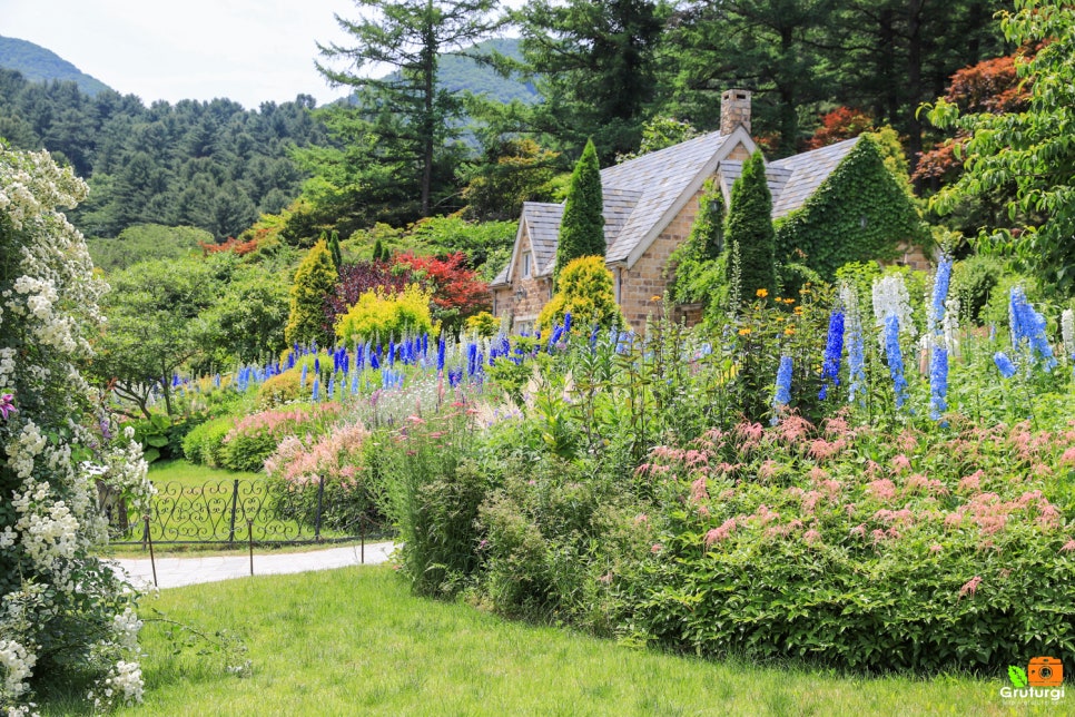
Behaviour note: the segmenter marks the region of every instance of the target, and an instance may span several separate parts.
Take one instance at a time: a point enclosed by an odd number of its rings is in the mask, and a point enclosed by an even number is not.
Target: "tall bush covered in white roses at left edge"
[[[107,541],[98,483],[136,510],[152,488],[141,451],[111,440],[82,379],[103,326],[82,236],[62,209],[86,184],[48,153],[0,143],[0,713],[85,684],[105,709],[141,697],[137,592],[92,550]]]

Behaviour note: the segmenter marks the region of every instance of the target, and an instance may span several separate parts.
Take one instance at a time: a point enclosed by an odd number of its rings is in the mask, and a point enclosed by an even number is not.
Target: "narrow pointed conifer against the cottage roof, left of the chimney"
[[[575,163],[560,222],[560,243],[553,278],[571,259],[604,256],[604,199],[601,196],[601,170],[593,140],[586,141],[582,157]]]

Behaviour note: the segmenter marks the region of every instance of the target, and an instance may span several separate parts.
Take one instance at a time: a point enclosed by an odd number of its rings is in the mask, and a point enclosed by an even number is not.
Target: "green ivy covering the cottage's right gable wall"
[[[908,242],[928,249],[925,225],[876,141],[858,139],[806,204],[777,229],[777,254],[825,278],[849,262],[890,259]]]

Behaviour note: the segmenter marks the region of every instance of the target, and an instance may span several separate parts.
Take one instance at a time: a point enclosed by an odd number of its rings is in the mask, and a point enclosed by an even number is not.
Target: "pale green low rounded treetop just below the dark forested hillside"
[[[93,266],[111,273],[139,262],[200,255],[203,245],[213,245],[213,235],[189,226],[138,224],[127,227],[115,239],[89,239],[86,245]]]

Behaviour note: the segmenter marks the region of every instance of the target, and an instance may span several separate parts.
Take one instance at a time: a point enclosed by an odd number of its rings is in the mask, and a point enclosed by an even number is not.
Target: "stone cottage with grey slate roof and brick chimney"
[[[768,163],[772,218],[802,207],[857,141],[848,139]],[[660,308],[669,255],[690,233],[702,185],[716,177],[727,206],[742,161],[756,148],[750,137],[750,92],[732,89],[721,97],[719,131],[601,170],[605,263],[617,302],[635,331]],[[511,315],[515,331],[532,328],[552,298],[562,216],[562,204],[525,203],[511,259],[490,284],[494,315]],[[920,251],[908,252],[904,259],[925,264]]]

